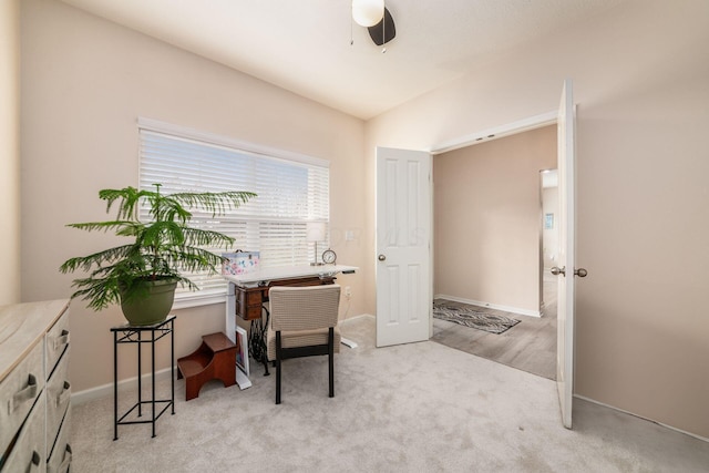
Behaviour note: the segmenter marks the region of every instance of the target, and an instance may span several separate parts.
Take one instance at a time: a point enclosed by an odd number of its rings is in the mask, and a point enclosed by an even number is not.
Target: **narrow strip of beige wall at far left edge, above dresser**
[[[0,306],[20,301],[20,7],[0,0]]]

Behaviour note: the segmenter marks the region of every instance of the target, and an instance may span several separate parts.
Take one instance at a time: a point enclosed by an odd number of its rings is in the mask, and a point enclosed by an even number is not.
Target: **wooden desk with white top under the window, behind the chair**
[[[227,280],[226,333],[236,342],[236,317],[250,322],[248,348],[255,360],[264,363],[268,376],[266,357],[266,329],[268,328],[268,289],[274,286],[319,286],[335,284],[340,273],[354,273],[353,266],[322,265],[267,268],[239,276],[223,277]],[[264,313],[266,318],[264,320]],[[238,369],[238,368],[237,368]],[[247,373],[248,374],[248,373]]]

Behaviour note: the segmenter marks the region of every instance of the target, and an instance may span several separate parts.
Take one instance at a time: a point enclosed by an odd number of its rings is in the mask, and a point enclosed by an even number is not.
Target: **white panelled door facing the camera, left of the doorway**
[[[431,155],[377,147],[377,347],[429,339]]]

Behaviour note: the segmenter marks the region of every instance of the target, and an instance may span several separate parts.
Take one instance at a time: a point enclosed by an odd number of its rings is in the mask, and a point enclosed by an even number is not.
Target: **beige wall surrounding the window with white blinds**
[[[363,123],[251,76],[89,16],[61,2],[22,2],[22,299],[65,298],[75,275],[68,257],[113,243],[65,228],[103,219],[97,191],[137,185],[136,119],[145,116],[331,162],[335,233],[360,235]],[[363,266],[360,241],[333,241],[338,260]],[[351,307],[363,310],[362,276],[346,275]],[[224,305],[177,310],[176,356],[224,329]],[[112,381],[110,328],[117,308],[92,313],[71,305],[74,392]],[[131,350],[121,377],[134,376]],[[166,348],[160,368],[167,364]]]

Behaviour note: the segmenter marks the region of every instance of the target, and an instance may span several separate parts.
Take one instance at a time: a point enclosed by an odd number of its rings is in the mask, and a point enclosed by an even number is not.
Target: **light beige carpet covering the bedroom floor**
[[[251,376],[239,391],[205,385],[176,413],[126,425],[113,441],[113,399],[73,408],[72,472],[706,472],[709,444],[576,400],[561,425],[555,383],[434,342],[373,348],[374,320],[348,320],[360,343]],[[168,381],[158,388],[168,389]],[[127,398],[127,395],[123,395]]]

